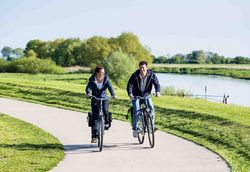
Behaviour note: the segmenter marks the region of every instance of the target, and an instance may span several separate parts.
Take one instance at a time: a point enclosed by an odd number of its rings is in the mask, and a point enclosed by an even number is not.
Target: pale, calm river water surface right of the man
[[[250,80],[234,79],[214,75],[181,75],[156,74],[161,87],[174,87],[190,90],[195,95],[215,95],[221,97],[207,97],[209,100],[222,102],[224,94],[229,95],[228,102],[242,106],[250,106]],[[203,97],[204,98],[204,97]]]

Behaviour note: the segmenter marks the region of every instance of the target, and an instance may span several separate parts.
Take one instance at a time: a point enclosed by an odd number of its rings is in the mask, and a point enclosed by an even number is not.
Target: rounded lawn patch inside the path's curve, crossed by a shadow
[[[48,171],[64,156],[59,141],[43,130],[0,114],[0,171]]]

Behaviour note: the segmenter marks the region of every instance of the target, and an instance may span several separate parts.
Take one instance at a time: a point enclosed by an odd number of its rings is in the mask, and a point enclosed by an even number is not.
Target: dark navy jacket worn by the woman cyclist
[[[106,93],[106,89],[108,88],[111,96],[115,96],[114,93],[114,89],[110,83],[110,79],[107,75],[104,76],[103,79],[103,85],[102,88],[99,89],[95,83],[95,75],[93,74],[90,78],[89,78],[89,83],[86,87],[86,93],[90,94],[90,92],[92,91],[92,95],[98,98],[107,98],[108,95]]]

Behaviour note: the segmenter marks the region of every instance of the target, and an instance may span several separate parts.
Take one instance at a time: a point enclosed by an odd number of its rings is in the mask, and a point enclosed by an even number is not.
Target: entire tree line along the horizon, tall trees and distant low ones
[[[176,54],[170,56],[154,56],[144,47],[138,37],[133,33],[124,32],[117,37],[105,38],[93,36],[86,40],[79,38],[55,39],[54,41],[30,40],[25,49],[5,46],[2,48],[2,56],[11,61],[20,57],[36,57],[50,59],[57,65],[88,66],[102,64],[114,52],[121,51],[135,58],[136,62],[146,60],[153,63],[169,64],[250,64],[250,58],[237,56],[235,58],[224,57],[213,52],[195,50],[189,54]]]

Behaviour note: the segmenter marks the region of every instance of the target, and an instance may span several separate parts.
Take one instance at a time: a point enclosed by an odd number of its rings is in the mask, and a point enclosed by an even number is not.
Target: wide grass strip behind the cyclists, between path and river
[[[0,74],[0,96],[88,112],[90,101],[83,94],[88,77]],[[125,90],[115,87],[115,91],[118,100],[110,102],[110,111],[125,120],[130,101]],[[250,170],[250,108],[171,96],[153,101],[160,129],[217,152],[233,171]]]

